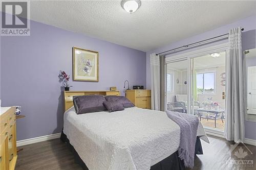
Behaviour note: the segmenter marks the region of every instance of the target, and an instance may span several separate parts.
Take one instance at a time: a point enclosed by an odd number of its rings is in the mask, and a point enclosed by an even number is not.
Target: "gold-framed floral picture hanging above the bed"
[[[99,53],[73,47],[73,80],[99,81]]]

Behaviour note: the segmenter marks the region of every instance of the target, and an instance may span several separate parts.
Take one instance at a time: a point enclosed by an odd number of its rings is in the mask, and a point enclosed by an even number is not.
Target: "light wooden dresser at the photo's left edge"
[[[14,170],[17,160],[16,107],[1,107],[0,112],[0,170]]]

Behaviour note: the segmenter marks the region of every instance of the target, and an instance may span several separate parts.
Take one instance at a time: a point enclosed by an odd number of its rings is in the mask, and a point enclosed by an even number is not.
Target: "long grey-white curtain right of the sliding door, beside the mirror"
[[[225,138],[244,141],[245,83],[241,28],[229,31],[229,53],[226,68],[226,122]]]

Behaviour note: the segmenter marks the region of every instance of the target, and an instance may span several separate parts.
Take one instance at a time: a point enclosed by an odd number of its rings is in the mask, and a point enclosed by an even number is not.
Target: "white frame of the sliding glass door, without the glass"
[[[187,52],[187,53],[182,53],[182,54],[171,54],[171,55],[166,55],[165,56],[165,61],[164,61],[164,107],[166,110],[167,106],[167,89],[166,89],[166,73],[167,73],[167,64],[168,63],[173,63],[173,62],[178,62],[178,61],[184,61],[187,60],[188,62],[188,70],[187,70],[187,113],[188,114],[194,114],[194,110],[191,112],[191,104],[194,105],[194,98],[193,98],[193,67],[194,67],[194,59],[197,57],[202,57],[211,53],[215,52],[226,52],[226,61],[227,61],[227,56],[228,56],[228,49],[229,49],[229,44],[228,43],[221,43],[218,45],[213,45],[213,44],[208,44],[207,47],[200,48],[195,48],[195,50]],[[227,63],[227,62],[226,62]],[[227,66],[226,66],[226,74],[227,74]],[[226,82],[227,84],[227,82]],[[227,91],[227,90],[226,90]],[[226,93],[227,95],[227,93]],[[224,132],[221,130],[217,129],[211,129],[204,127],[205,131],[207,134],[218,136],[218,137],[224,137]]]

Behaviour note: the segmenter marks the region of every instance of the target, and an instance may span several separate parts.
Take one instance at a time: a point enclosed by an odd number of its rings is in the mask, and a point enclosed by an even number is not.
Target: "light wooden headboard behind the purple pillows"
[[[64,91],[64,110],[73,106],[74,95],[120,95],[120,91]]]

